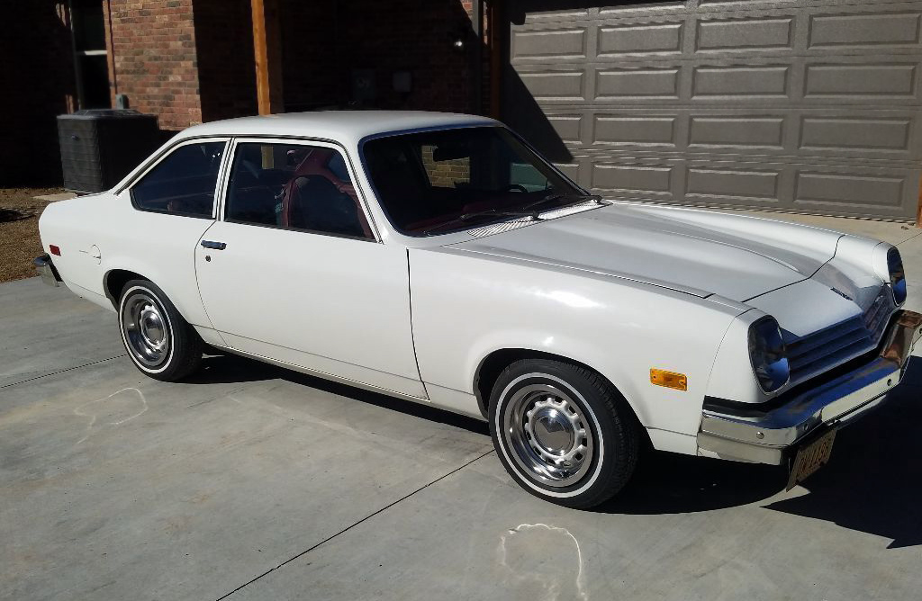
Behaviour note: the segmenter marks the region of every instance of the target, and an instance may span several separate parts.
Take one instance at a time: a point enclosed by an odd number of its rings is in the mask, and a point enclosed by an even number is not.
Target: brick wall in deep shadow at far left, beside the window
[[[0,186],[61,180],[55,117],[75,108],[70,29],[63,2],[4,5],[0,53]]]

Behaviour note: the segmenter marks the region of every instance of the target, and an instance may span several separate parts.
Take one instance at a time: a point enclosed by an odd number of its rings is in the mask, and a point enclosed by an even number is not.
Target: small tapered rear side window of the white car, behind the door
[[[187,144],[173,150],[131,188],[145,211],[211,217],[226,142]]]

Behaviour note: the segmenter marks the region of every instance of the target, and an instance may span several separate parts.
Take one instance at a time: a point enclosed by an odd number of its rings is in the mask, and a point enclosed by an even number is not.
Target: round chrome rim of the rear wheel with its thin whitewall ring
[[[122,305],[122,329],[128,350],[142,365],[157,368],[170,355],[170,328],[160,303],[136,290]]]

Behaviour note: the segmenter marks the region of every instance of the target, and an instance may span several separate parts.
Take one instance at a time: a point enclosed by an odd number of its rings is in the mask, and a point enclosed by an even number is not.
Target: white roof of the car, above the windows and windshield
[[[176,139],[197,136],[304,136],[355,146],[367,136],[415,129],[496,125],[488,117],[424,111],[284,112],[194,125]]]

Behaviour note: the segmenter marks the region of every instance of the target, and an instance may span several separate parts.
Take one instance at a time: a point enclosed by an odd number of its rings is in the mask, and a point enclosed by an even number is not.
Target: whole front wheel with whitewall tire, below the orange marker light
[[[640,428],[608,382],[570,363],[515,361],[493,384],[490,433],[502,465],[523,489],[566,507],[595,507],[624,488]]]

